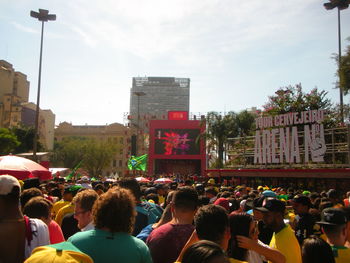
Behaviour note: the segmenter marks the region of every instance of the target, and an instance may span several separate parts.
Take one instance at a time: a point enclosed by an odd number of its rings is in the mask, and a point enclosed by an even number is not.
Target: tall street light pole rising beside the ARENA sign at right
[[[327,10],[333,8],[338,9],[338,75],[339,75],[339,95],[340,95],[340,120],[341,124],[344,125],[344,103],[343,103],[343,87],[340,82],[340,67],[341,67],[341,30],[340,30],[340,10],[349,7],[350,0],[330,0],[328,3],[324,3],[323,6]]]

